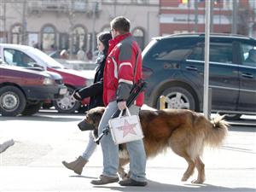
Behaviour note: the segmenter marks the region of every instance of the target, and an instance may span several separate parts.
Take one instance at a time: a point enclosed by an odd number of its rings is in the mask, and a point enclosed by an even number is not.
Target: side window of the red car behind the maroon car
[[[3,49],[4,61],[9,65],[32,67],[36,63],[30,56],[16,49]]]

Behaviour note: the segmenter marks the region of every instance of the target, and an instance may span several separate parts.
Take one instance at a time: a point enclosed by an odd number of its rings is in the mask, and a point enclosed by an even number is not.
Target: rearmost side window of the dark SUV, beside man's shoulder
[[[186,41],[181,39],[176,40],[160,40],[158,44],[149,51],[148,55],[151,60],[174,60],[182,61],[187,55],[192,52],[195,46],[195,41]]]

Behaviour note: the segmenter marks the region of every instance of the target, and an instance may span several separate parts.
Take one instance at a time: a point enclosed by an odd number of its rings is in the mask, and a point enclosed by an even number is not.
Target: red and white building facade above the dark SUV
[[[205,32],[206,0],[160,0],[160,35]],[[211,32],[255,34],[255,0],[211,0]]]

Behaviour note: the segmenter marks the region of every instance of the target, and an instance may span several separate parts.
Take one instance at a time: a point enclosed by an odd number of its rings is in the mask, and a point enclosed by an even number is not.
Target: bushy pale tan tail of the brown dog
[[[224,142],[230,125],[224,120],[224,115],[219,114],[211,120],[211,125],[205,141],[211,147],[219,147]]]

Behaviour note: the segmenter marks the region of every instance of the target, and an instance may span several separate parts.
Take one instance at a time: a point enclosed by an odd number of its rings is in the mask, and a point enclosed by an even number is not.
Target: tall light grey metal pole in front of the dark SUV
[[[206,1],[206,21],[205,21],[205,71],[204,71],[204,102],[203,112],[208,119],[209,106],[209,48],[210,48],[210,17],[211,17],[211,2]]]

